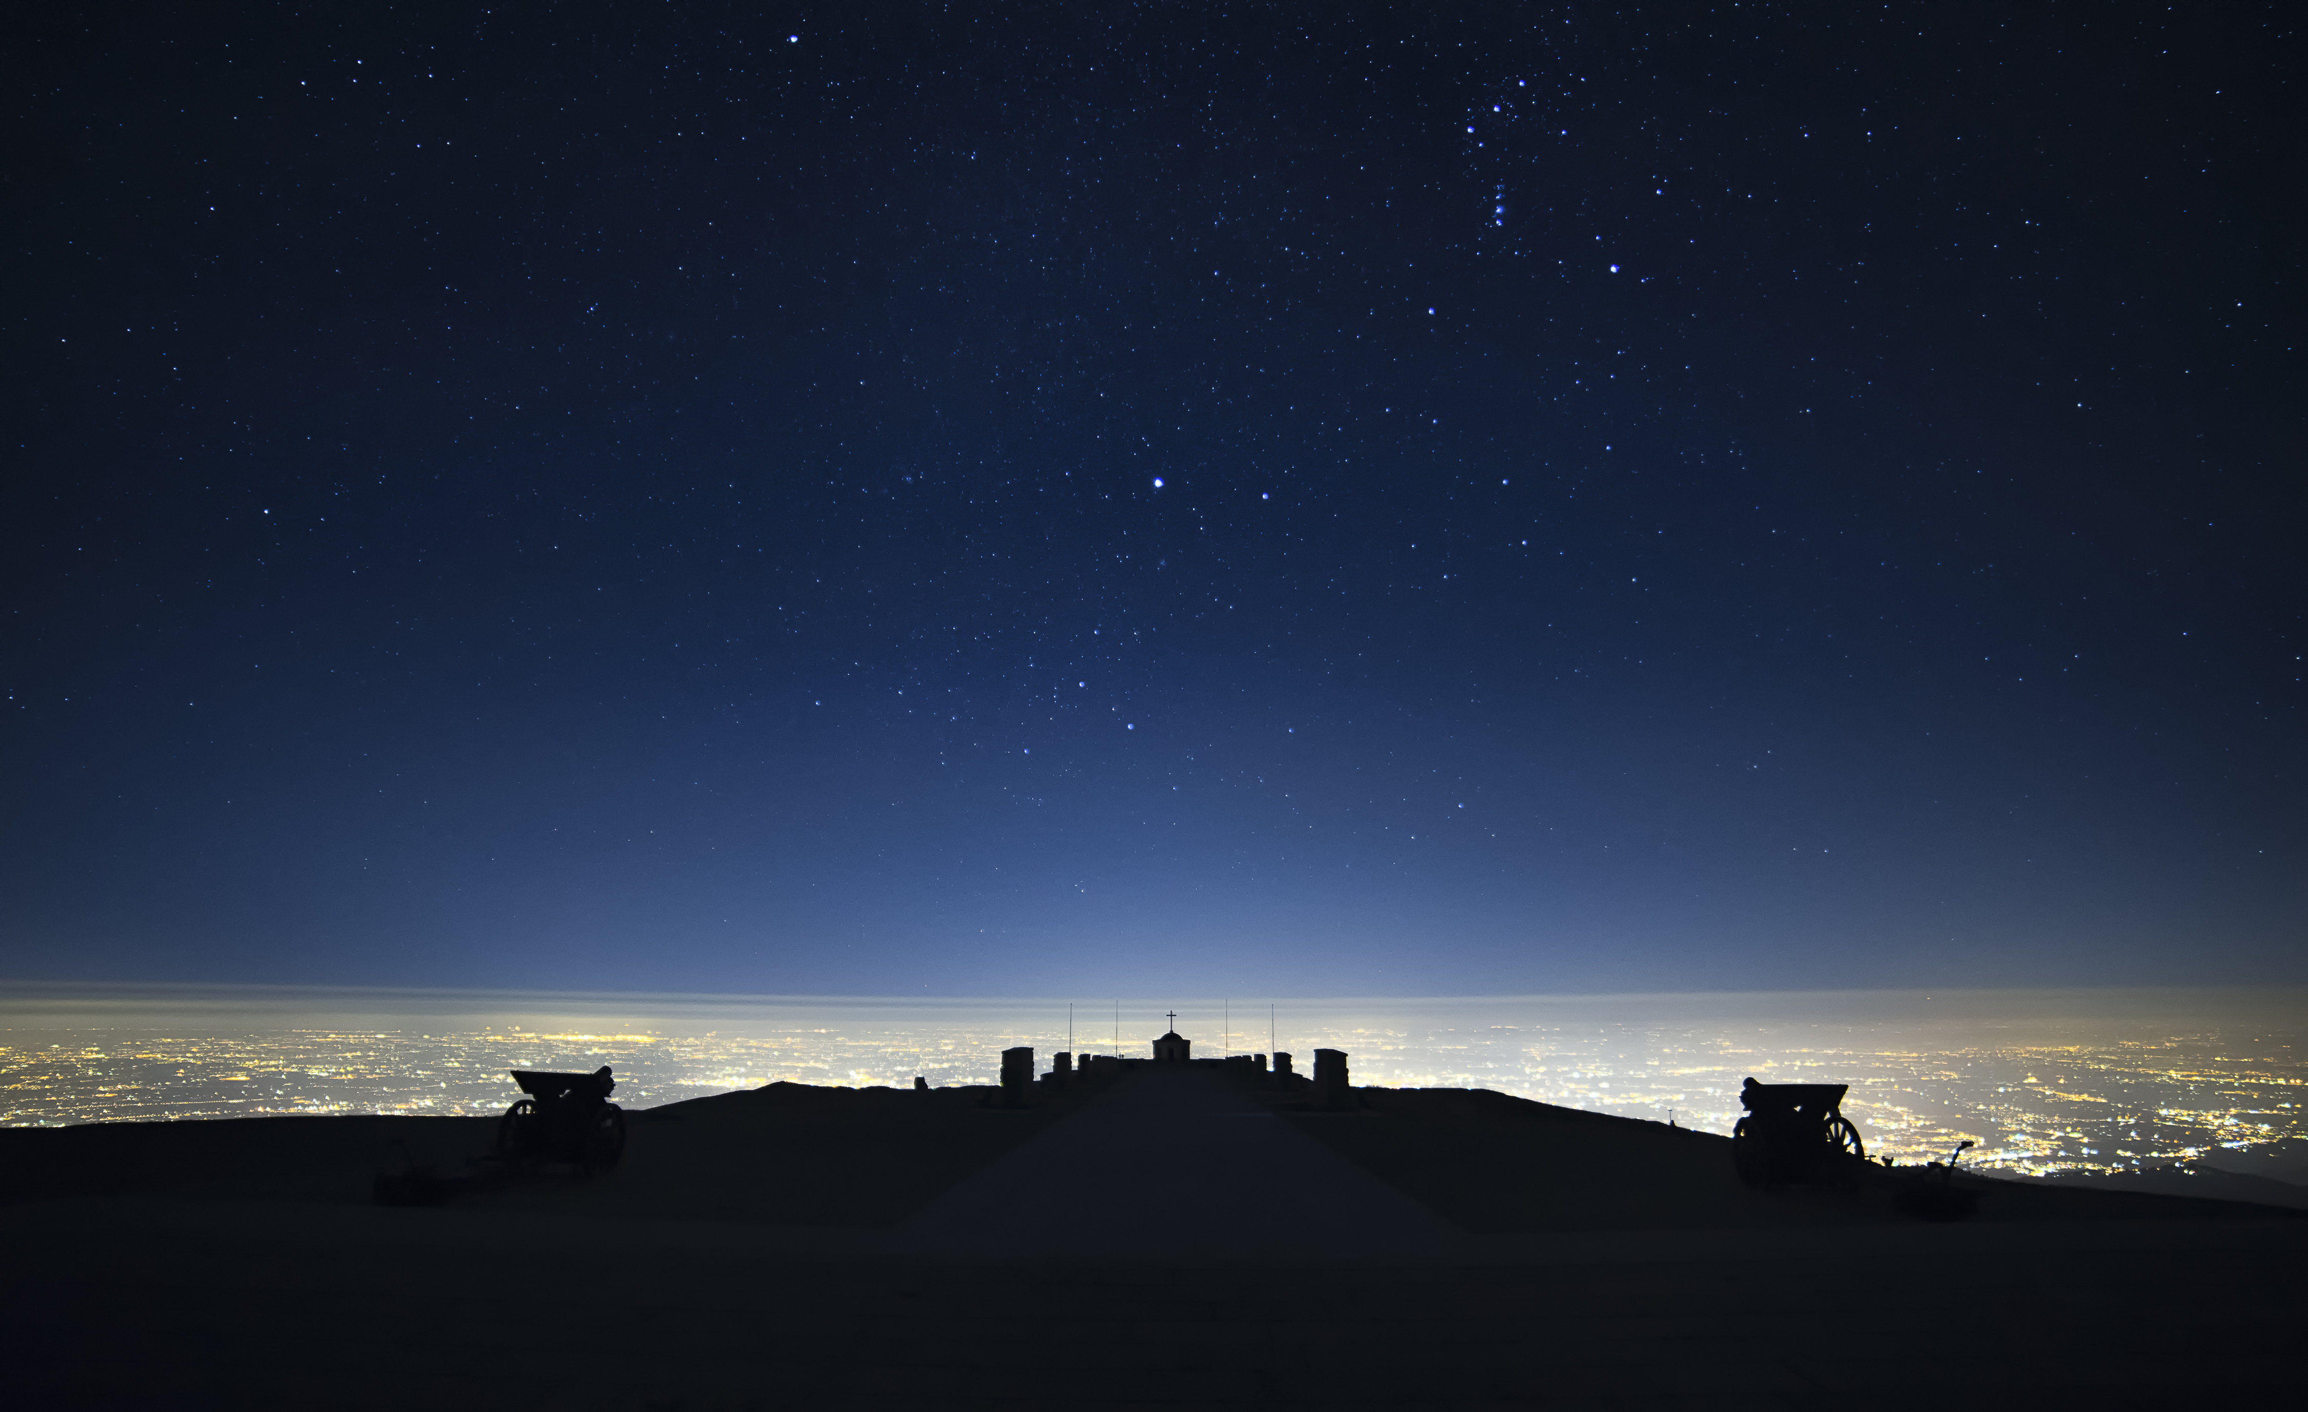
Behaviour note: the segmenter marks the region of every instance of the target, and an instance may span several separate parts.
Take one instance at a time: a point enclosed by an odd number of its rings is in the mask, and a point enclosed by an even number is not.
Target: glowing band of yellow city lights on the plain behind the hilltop
[[[258,1114],[496,1114],[517,1094],[510,1068],[598,1068],[619,1101],[655,1107],[769,1082],[840,1087],[990,1084],[1011,1045],[1066,1047],[1016,1004],[944,1013],[812,1008],[715,1015],[713,1029],[443,1024],[404,1029],[249,1029],[187,1036],[166,1027],[0,1029],[0,1126],[219,1119]],[[2202,1024],[2176,1034],[2098,1034],[2089,1043],[1976,1043],[1916,1027],[1860,1027],[1823,1043],[1800,1027],[1623,1017],[1500,1022],[1500,1004],[1406,1004],[1403,1013],[1295,1013],[1286,1050],[1339,1047],[1373,1087],[1496,1089],[1542,1103],[1729,1133],[1738,1089],[1846,1082],[1867,1151],[1893,1161],[1978,1142],[1978,1167],[2019,1174],[2121,1172],[2206,1151],[2308,1135],[2292,1034]],[[1216,1020],[1219,1015],[1209,1015]],[[1196,1029],[1191,1022],[1182,1022]],[[1122,1027],[1138,1052],[1142,1024]],[[1872,1029],[1874,1034],[1865,1034]],[[1265,1045],[1260,1034],[1196,1029],[1209,1052]],[[1966,1043],[1973,1041],[1973,1043]],[[1082,1052],[1110,1047],[1106,1029]]]

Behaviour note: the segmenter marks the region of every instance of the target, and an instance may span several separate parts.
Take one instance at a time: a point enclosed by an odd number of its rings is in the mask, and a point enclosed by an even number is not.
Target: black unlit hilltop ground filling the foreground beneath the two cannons
[[[0,1131],[12,1405],[1923,1407],[2296,1387],[2308,1221],[1989,1184],[1745,1191],[1726,1142],[1496,1094],[1290,1112],[1138,1071],[773,1084],[625,1165],[369,1204],[485,1119]],[[2290,1400],[2290,1398],[2287,1398]]]

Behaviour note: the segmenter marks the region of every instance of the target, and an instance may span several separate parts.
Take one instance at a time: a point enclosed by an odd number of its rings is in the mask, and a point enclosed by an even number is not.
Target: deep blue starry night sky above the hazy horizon
[[[42,12],[0,976],[2308,976],[2276,5]]]

